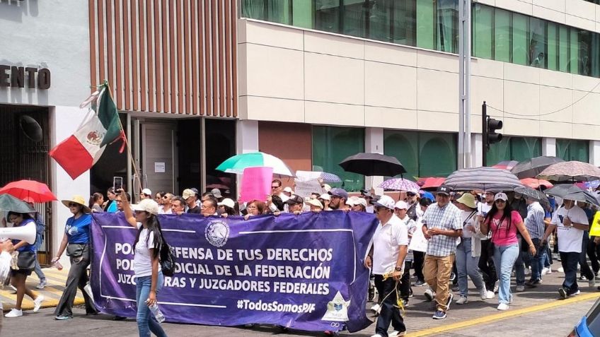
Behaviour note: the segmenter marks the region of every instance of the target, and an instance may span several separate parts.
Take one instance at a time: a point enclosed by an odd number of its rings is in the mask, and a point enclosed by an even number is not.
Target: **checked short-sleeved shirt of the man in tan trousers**
[[[427,207],[423,215],[427,223],[427,229],[438,228],[441,230],[461,230],[463,223],[461,221],[461,210],[448,203],[440,207],[437,203],[432,203]],[[427,244],[427,255],[449,256],[456,253],[456,237],[446,235],[434,235]]]

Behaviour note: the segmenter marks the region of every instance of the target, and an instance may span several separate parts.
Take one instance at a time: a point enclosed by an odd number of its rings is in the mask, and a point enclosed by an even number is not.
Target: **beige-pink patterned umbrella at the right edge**
[[[600,179],[600,168],[577,160],[557,162],[540,172],[538,178],[555,182],[589,182]]]

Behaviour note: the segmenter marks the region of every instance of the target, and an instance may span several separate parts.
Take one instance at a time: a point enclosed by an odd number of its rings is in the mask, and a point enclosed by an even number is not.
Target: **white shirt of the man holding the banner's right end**
[[[377,225],[373,235],[373,273],[393,272],[398,261],[398,246],[408,246],[408,229],[396,215],[388,223]]]

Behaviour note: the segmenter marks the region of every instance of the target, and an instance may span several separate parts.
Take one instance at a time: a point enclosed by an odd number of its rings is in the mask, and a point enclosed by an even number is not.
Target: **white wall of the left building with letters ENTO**
[[[52,107],[50,143],[55,146],[73,134],[87,112],[79,104],[90,94],[88,2],[0,1],[0,31],[0,64],[47,68],[52,73],[48,90],[0,88],[0,104]],[[88,199],[89,172],[73,180],[52,160],[51,184],[59,199],[74,194]],[[71,214],[58,201],[52,206],[55,254]],[[66,256],[62,262],[68,265]]]

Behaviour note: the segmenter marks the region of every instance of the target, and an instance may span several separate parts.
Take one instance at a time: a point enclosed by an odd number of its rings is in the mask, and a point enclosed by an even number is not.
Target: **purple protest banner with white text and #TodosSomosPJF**
[[[94,213],[93,219],[96,305],[135,317],[137,230],[122,214]],[[362,261],[377,225],[372,214],[159,219],[177,255],[175,275],[165,277],[157,295],[167,321],[351,332],[371,324],[365,313],[369,270]]]

